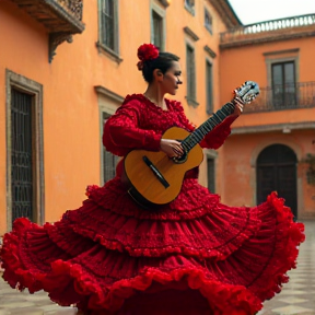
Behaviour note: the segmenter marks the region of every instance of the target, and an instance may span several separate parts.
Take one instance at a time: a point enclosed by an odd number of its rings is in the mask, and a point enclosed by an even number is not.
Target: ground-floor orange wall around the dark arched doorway
[[[256,160],[258,154],[273,143],[291,148],[298,158],[298,211],[300,217],[314,215],[315,187],[306,183],[306,167],[303,156],[315,153],[312,145],[313,131],[293,130],[291,133],[256,133],[231,136],[224,145],[224,186],[222,198],[235,206],[254,206],[256,200]],[[242,148],[242,150],[240,150]],[[300,189],[300,191],[299,191]]]

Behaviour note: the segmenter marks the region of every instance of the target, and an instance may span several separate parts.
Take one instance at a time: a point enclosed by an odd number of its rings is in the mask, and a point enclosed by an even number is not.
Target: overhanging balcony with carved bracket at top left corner
[[[49,34],[49,62],[56,48],[73,34],[84,31],[82,23],[83,0],[11,0],[34,20],[43,24]]]

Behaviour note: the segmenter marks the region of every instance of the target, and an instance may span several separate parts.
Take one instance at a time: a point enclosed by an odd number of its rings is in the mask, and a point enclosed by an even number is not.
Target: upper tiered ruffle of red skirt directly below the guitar
[[[198,198],[201,195],[205,205]],[[56,229],[68,233],[71,226],[74,233],[107,249],[127,250],[131,256],[183,254],[220,260],[255,234],[260,224],[256,210],[220,205],[219,196],[210,195],[197,179],[185,179],[176,201],[156,211],[130,203],[119,179],[94,189],[89,197],[78,211],[68,211]],[[184,210],[183,203],[190,210]]]

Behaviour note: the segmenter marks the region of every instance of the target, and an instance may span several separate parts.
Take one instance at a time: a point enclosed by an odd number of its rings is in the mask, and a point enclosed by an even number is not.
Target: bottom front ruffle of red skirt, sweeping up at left
[[[152,293],[156,287],[154,283],[160,283],[171,289],[199,290],[212,305],[215,305],[215,300],[225,296],[224,299],[229,299],[230,302],[223,303],[222,301],[221,311],[230,308],[231,304],[241,307],[245,301],[248,303],[246,308],[250,312],[252,308],[254,312],[259,306],[259,300],[245,287],[218,281],[210,276],[198,259],[180,255],[170,256],[163,260],[136,258],[126,253],[107,252],[100,244],[94,244],[93,247],[84,250],[86,244],[83,244],[82,250],[84,252],[68,260],[69,257],[54,246],[51,241],[50,244],[48,243],[49,238],[45,240],[45,233],[39,236],[40,232],[43,232],[40,228],[26,219],[15,221],[14,232],[7,234],[4,240],[5,249],[2,255],[5,271],[3,277],[7,281],[10,278],[11,287],[15,288],[19,283],[18,289],[28,288],[31,293],[44,289],[49,292],[50,299],[60,305],[78,304],[82,308],[109,308],[113,312],[119,310],[125,300],[136,294],[137,291]],[[25,246],[25,237],[24,242],[19,244],[19,238],[21,240],[22,235],[25,236],[27,233],[34,236],[28,238],[33,246],[39,240],[46,241],[45,246],[43,243],[39,245],[38,242],[36,250],[34,249],[30,256],[21,250]],[[44,253],[44,248],[47,247],[49,249]],[[72,246],[68,249],[73,254],[77,250]],[[38,262],[44,257],[49,260],[49,254],[58,259],[51,261],[49,267],[48,261],[45,266],[40,266]]]

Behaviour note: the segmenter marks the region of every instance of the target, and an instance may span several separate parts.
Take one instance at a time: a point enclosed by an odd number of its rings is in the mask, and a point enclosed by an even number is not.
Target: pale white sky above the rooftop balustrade
[[[315,13],[315,0],[229,0],[246,24]]]

